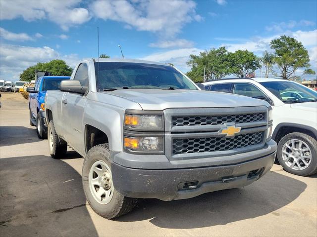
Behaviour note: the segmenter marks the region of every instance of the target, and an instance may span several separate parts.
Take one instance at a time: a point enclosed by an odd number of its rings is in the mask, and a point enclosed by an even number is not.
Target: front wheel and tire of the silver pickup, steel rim
[[[100,174],[97,174],[92,170],[94,167],[96,167],[95,165],[99,163],[101,164],[100,167],[103,167],[103,170],[99,171],[101,172]],[[109,146],[108,144],[100,144],[89,150],[85,157],[82,170],[83,188],[89,205],[98,215],[107,219],[113,219],[130,212],[137,204],[137,198],[125,197],[118,193],[115,187],[113,187],[110,167],[111,160]],[[108,176],[105,176],[105,173]],[[107,190],[102,190],[102,192],[106,192],[104,199],[103,196],[100,195],[98,198],[96,197],[96,189],[99,191],[102,187],[100,186],[100,182],[97,184],[97,186],[92,185],[90,178],[94,177],[94,175],[97,175],[95,178],[98,178],[102,175],[104,175],[104,177],[110,177],[110,188],[108,187]],[[108,197],[106,197],[106,195]]]

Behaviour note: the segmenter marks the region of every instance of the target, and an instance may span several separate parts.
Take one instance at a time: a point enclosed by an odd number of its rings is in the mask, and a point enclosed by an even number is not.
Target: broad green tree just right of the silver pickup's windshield
[[[195,82],[205,80],[221,79],[231,74],[230,62],[228,60],[229,53],[225,47],[211,48],[201,52],[200,55],[190,55],[187,65],[191,67],[191,71],[187,76]]]

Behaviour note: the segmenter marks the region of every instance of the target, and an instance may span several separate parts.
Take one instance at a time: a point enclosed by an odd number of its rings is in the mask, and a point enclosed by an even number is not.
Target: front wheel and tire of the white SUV
[[[299,146],[301,146],[300,149]],[[309,176],[317,172],[316,149],[317,141],[313,137],[304,133],[293,132],[285,135],[278,142],[277,158],[287,172]]]

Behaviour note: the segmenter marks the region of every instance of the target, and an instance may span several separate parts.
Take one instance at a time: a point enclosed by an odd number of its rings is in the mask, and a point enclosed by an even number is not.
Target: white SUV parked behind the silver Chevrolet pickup
[[[272,138],[283,168],[302,176],[317,172],[317,91],[294,81],[268,78],[220,79],[206,90],[266,100],[273,108]]]

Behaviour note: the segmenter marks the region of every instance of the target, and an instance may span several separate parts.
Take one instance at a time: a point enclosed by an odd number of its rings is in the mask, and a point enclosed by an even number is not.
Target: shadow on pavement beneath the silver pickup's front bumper
[[[169,229],[203,228],[279,215],[278,209],[295,200],[307,185],[296,179],[269,171],[262,179],[241,189],[223,190],[185,200],[145,199],[120,222],[148,220]]]

